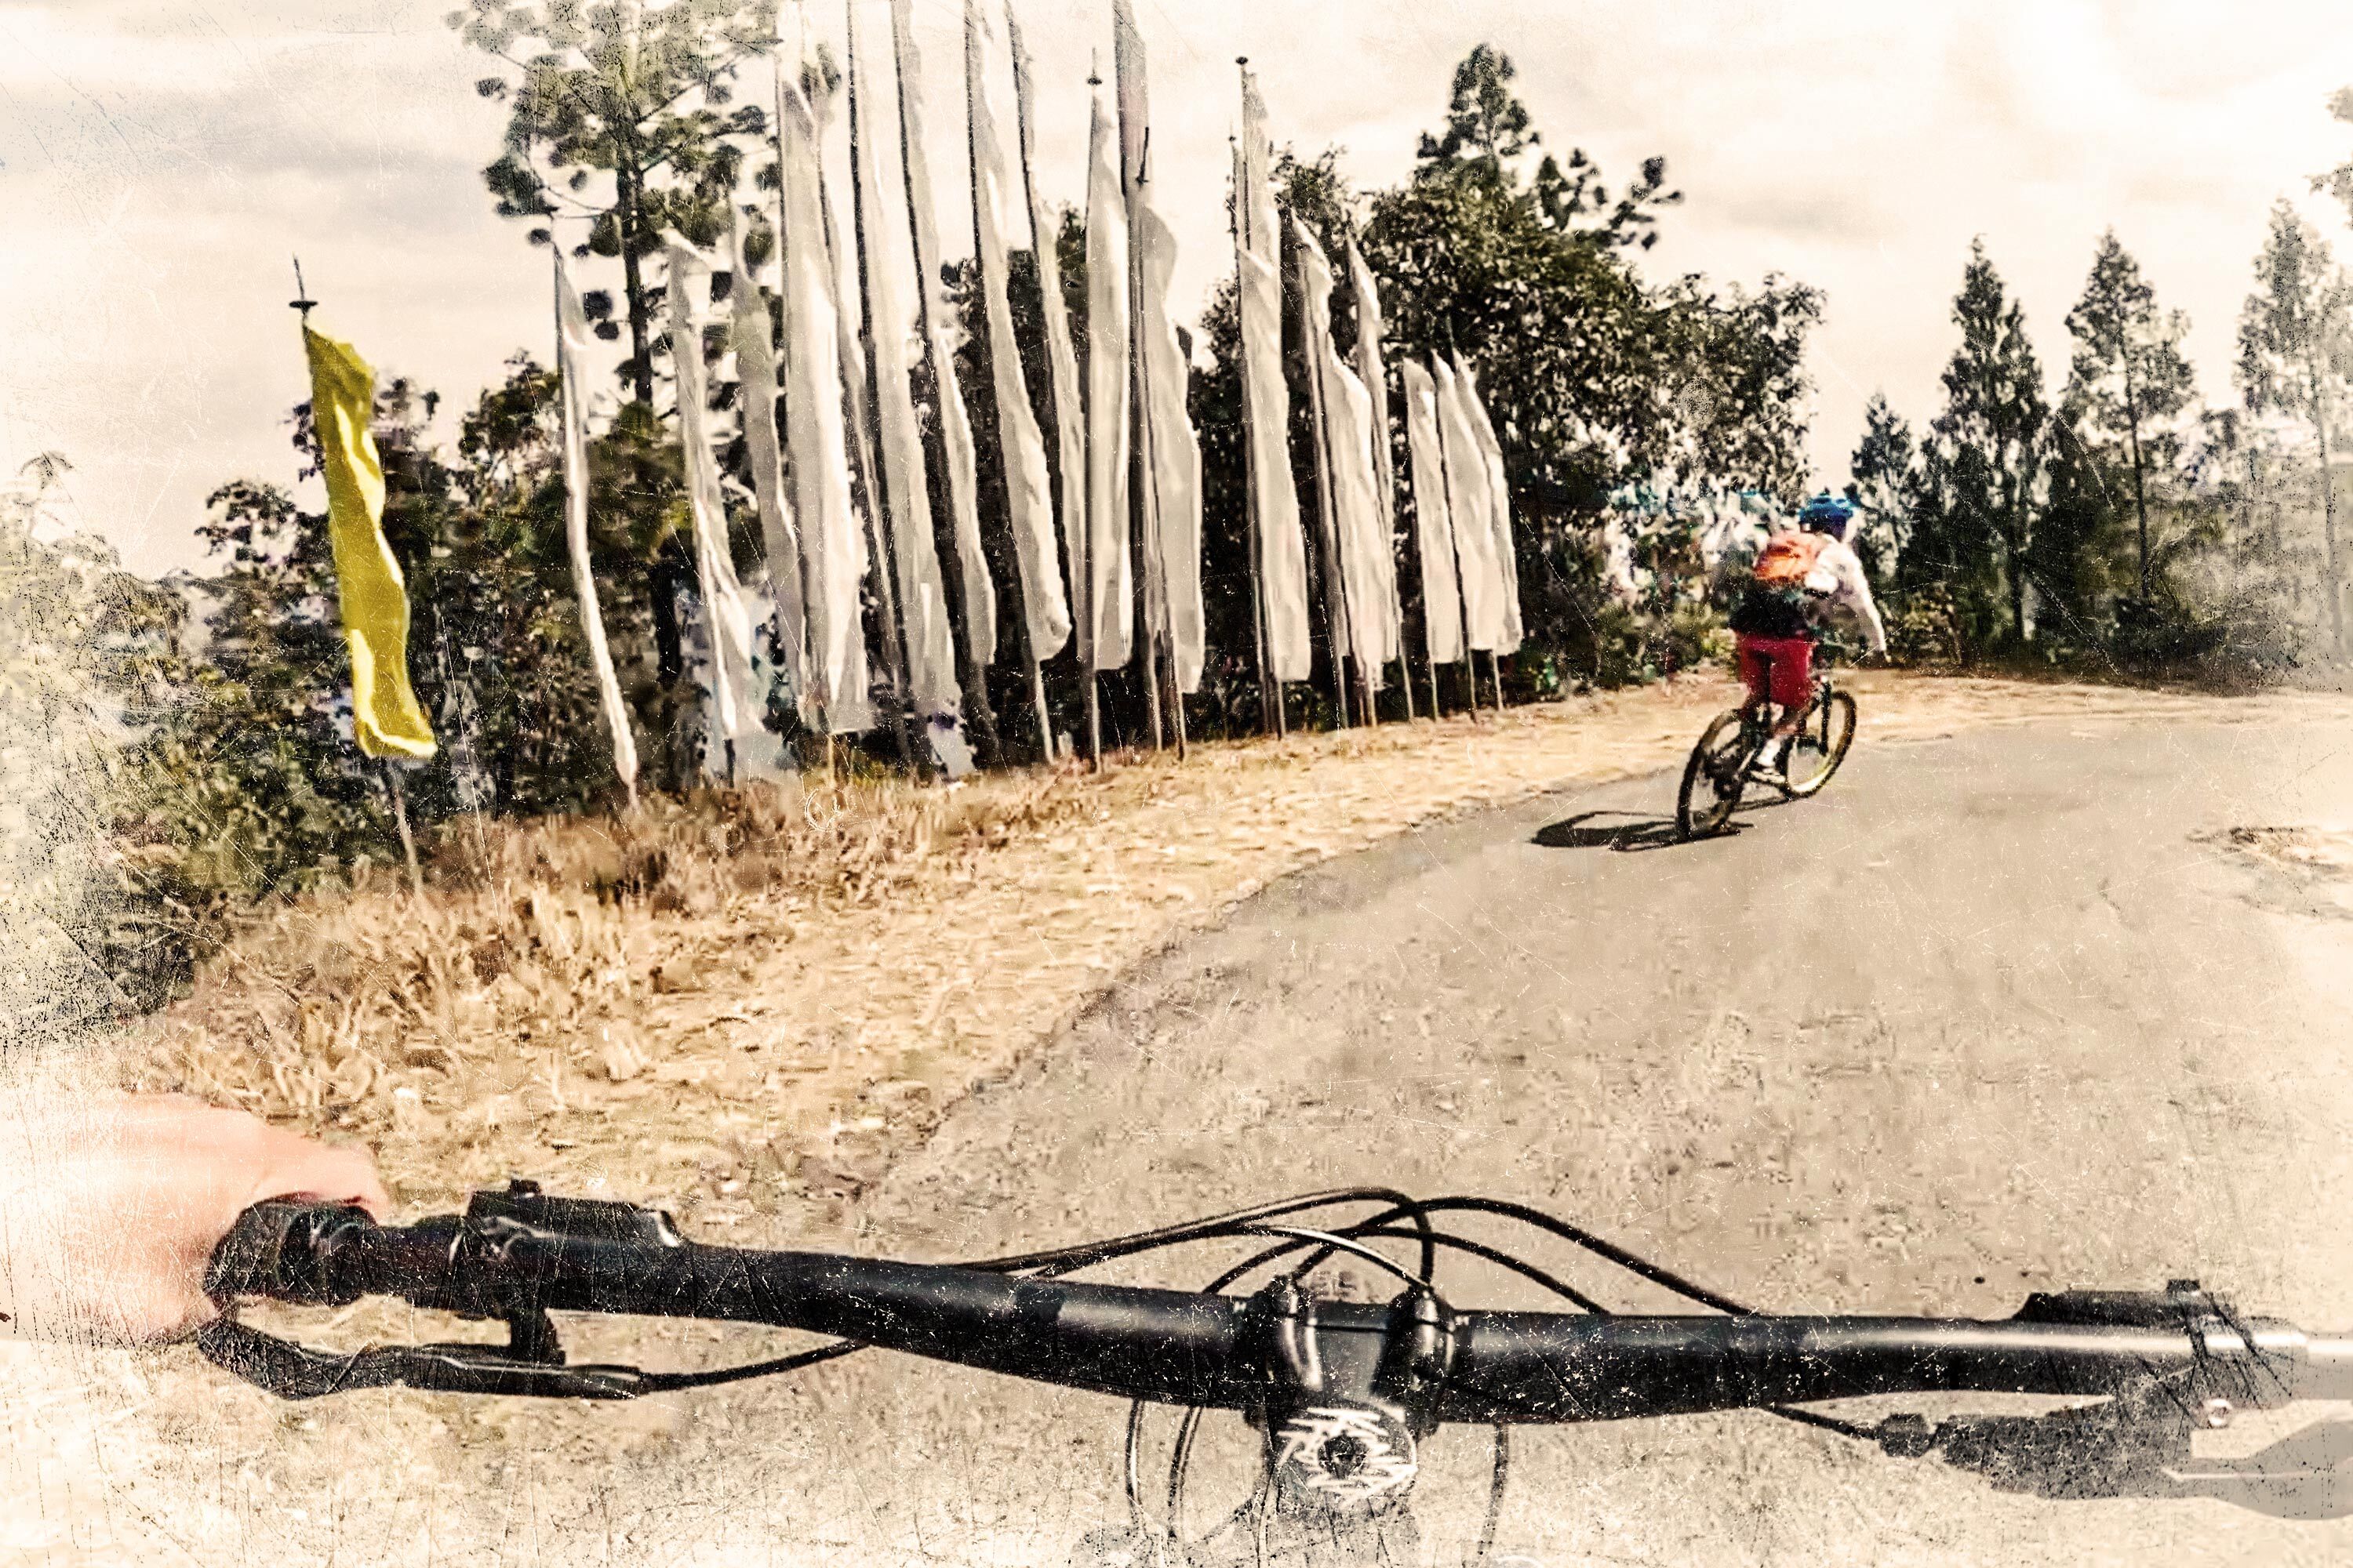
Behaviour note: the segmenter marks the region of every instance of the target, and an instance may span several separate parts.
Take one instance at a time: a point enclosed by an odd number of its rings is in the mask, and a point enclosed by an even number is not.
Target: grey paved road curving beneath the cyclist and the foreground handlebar
[[[1911,748],[1866,726],[1821,799],[1633,849],[1671,788],[1537,799],[1271,889],[958,1112],[859,1246],[976,1255],[1379,1180],[1534,1201],[1777,1309],[1998,1316],[2031,1288],[2198,1274],[2353,1328],[2353,922],[2193,837],[2353,823],[2353,726]],[[1534,1305],[1485,1272],[1454,1298]],[[680,1401],[628,1467],[560,1462],[574,1415],[499,1413],[511,1460],[355,1490],[329,1540],[419,1563],[1056,1563],[1120,1512],[1122,1415],[892,1356]],[[1205,1450],[1207,1516],[1247,1441],[1228,1422]],[[1459,1554],[1485,1439],[1426,1460],[1428,1535]],[[2353,1561],[2353,1521],[2021,1500],[1765,1415],[1537,1432],[1513,1476],[1504,1544],[1548,1566]],[[214,1490],[231,1537],[278,1537],[261,1490]]]

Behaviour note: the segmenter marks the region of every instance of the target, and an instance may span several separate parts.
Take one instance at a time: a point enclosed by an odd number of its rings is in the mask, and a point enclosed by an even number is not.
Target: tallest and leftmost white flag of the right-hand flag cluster
[[[1249,477],[1259,498],[1259,592],[1266,599],[1266,665],[1278,679],[1308,679],[1308,557],[1292,480],[1292,393],[1282,376],[1282,277],[1271,181],[1273,146],[1259,82],[1242,71],[1242,146],[1235,176],[1240,228],[1242,378],[1249,414]]]

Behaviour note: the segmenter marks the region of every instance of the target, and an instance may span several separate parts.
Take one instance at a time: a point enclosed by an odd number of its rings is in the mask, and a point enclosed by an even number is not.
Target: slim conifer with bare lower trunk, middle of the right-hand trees
[[[2179,458],[2169,421],[2198,395],[2195,374],[2181,357],[2191,322],[2179,310],[2158,310],[2158,292],[2111,228],[2066,329],[2075,339],[2068,430],[2097,449],[2122,447],[2139,534],[2139,592],[2148,599],[2148,477],[2151,468],[2167,470]]]

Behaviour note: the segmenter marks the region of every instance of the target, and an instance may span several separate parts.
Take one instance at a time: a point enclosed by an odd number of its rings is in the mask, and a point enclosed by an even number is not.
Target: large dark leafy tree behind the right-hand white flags
[[[1805,477],[1802,346],[1821,317],[1821,296],[1779,277],[1762,289],[1715,289],[1701,280],[1647,284],[1633,268],[1638,240],[1624,237],[1631,228],[1565,221],[1546,205],[1541,167],[1539,179],[1525,176],[1525,153],[1541,143],[1508,82],[1504,56],[1473,52],[1454,75],[1445,129],[1426,139],[1424,160],[1402,186],[1355,193],[1334,153],[1285,153],[1275,181],[1285,212],[1327,254],[1339,256],[1348,237],[1362,247],[1381,289],[1393,371],[1407,357],[1452,353],[1480,369],[1518,524],[1527,625],[1520,679],[1529,691],[1551,691],[1649,658],[1624,656],[1624,614],[1612,609],[1602,581],[1602,522],[1614,489],[1673,473],[1715,489],[1795,498]],[[1353,346],[1346,289],[1334,315],[1337,348],[1346,355]],[[1212,364],[1195,383],[1212,550],[1205,585],[1212,625],[1231,628],[1226,646],[1247,649],[1240,559],[1247,515],[1233,456],[1240,381],[1226,289],[1205,317],[1205,336]],[[1301,503],[1313,508],[1306,360],[1289,320],[1285,350],[1294,470],[1306,491]],[[1393,383],[1393,411],[1398,390]],[[1391,421],[1388,440],[1402,442],[1402,421]],[[1400,449],[1398,473],[1407,468]],[[1219,564],[1219,550],[1233,552],[1231,567]],[[1419,621],[1414,578],[1400,574],[1409,644]],[[1224,609],[1219,583],[1233,585]],[[1640,637],[1652,632],[1668,635],[1661,623],[1645,625]],[[1254,689],[1242,691],[1231,708],[1247,712],[1254,701]]]

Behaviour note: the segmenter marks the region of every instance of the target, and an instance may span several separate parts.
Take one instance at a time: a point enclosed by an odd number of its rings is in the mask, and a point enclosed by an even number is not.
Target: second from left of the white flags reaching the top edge
[[[899,158],[906,169],[908,235],[915,247],[915,322],[932,397],[939,409],[939,447],[946,465],[948,522],[955,536],[958,585],[965,618],[965,696],[981,741],[998,750],[998,722],[988,708],[988,665],[998,656],[998,590],[981,548],[979,473],[972,418],[955,383],[955,350],[948,339],[946,299],[939,287],[939,207],[932,200],[932,165],[922,129],[922,56],[915,52],[913,0],[889,5],[892,45],[899,56]]]

